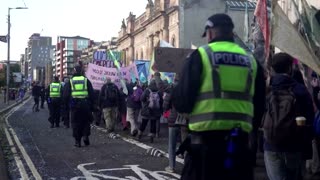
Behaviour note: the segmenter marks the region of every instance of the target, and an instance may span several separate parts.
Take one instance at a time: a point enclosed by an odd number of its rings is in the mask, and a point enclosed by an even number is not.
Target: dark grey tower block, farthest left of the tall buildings
[[[51,62],[52,38],[34,33],[30,36],[25,50],[28,64],[28,80],[44,82],[44,67]]]

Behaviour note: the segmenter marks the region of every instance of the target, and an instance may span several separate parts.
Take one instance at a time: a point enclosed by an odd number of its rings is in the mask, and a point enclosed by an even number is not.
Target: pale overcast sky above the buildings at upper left
[[[11,60],[19,60],[33,33],[51,36],[83,36],[94,41],[117,36],[123,18],[132,11],[139,16],[147,0],[0,0],[0,35],[7,34],[8,7],[11,10]],[[7,59],[7,44],[0,42],[0,60]]]

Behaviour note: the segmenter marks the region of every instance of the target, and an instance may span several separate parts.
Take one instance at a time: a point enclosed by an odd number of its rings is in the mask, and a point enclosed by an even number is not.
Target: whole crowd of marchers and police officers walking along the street
[[[111,133],[121,122],[138,140],[149,123],[153,143],[164,118],[169,127],[166,171],[175,171],[175,157],[181,155],[181,179],[253,180],[258,142],[270,180],[303,180],[306,172],[320,179],[318,76],[313,74],[310,93],[299,63],[286,53],[270,56],[263,68],[235,43],[233,29],[228,15],[209,17],[203,33],[208,44],[188,57],[172,84],[157,72],[148,83],[127,81],[128,93],[110,79],[95,91],[77,65],[64,85],[55,78],[46,90],[51,127],[59,127],[60,115],[66,127],[70,120],[75,146],[81,147],[81,140],[90,144],[91,123],[104,121]]]

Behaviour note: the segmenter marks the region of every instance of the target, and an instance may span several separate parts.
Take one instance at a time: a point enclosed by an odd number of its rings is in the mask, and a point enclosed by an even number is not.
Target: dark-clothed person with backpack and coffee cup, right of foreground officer
[[[271,92],[262,120],[264,160],[270,180],[302,180],[305,160],[312,156],[313,102],[307,88],[293,79],[287,53],[271,59]],[[305,119],[304,124],[296,120]]]

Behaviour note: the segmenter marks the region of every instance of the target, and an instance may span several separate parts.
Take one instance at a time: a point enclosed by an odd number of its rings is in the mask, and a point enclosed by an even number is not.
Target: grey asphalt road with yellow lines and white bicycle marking
[[[5,133],[14,152],[9,162],[11,179],[174,180],[180,177],[182,159],[178,159],[177,174],[164,171],[168,165],[166,128],[162,128],[154,144],[149,144],[147,139],[139,143],[120,130],[121,135],[112,139],[103,128],[92,127],[91,145],[76,148],[71,129],[50,129],[48,110],[32,112],[32,105],[32,100],[26,101],[5,117],[9,124]],[[147,153],[152,147],[162,150],[164,156]],[[260,156],[256,179],[264,180],[261,159]]]

